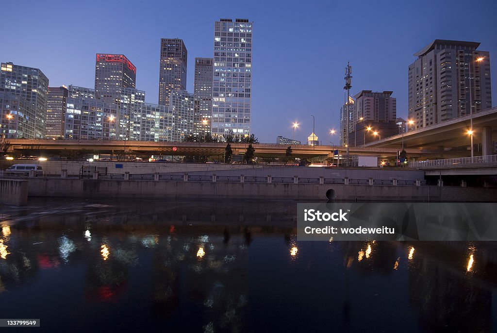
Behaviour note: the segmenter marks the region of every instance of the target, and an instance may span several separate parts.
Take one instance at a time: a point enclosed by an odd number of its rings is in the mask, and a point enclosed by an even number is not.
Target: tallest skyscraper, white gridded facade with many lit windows
[[[250,135],[252,22],[214,23],[212,133]]]

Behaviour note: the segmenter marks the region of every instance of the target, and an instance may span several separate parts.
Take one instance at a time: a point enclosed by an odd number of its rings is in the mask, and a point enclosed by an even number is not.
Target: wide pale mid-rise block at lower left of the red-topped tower
[[[119,113],[115,103],[85,97],[89,88],[69,86],[64,138],[73,140],[115,140],[119,132]]]

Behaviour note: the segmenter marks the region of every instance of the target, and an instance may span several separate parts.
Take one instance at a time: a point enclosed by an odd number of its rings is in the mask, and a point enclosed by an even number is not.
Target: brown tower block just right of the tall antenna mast
[[[397,99],[393,91],[372,92],[362,90],[355,97],[352,112],[352,128],[348,136],[355,147],[364,143],[386,138],[399,133],[397,119]],[[371,128],[371,130],[367,130]],[[374,135],[374,133],[377,133]]]

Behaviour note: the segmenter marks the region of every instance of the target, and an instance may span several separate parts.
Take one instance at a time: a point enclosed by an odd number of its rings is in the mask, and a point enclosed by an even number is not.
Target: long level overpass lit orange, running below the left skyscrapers
[[[153,141],[122,141],[122,140],[36,140],[36,139],[8,139],[7,153],[25,155],[28,151],[37,151],[46,154],[64,156],[65,152],[86,150],[99,154],[123,154],[135,155],[200,155],[200,156],[223,156],[226,143],[198,143],[198,142],[153,142]],[[289,145],[278,144],[253,144],[255,156],[258,157],[282,157],[285,156]],[[232,143],[233,154],[245,154],[248,144]],[[347,148],[337,146],[308,146],[292,145],[292,156],[296,158],[332,157],[332,151],[338,150],[341,156],[346,156]],[[443,152],[437,149],[406,149],[410,158],[439,158]],[[390,147],[349,147],[348,154],[378,156],[380,158],[395,158],[398,149]]]

